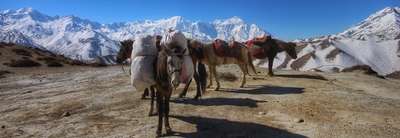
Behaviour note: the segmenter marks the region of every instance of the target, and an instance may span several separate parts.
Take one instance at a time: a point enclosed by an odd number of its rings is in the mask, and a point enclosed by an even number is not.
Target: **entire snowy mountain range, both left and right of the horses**
[[[100,24],[76,16],[48,16],[32,8],[0,12],[0,41],[38,47],[72,59],[112,62],[119,41],[136,36],[162,34],[173,28],[202,41],[219,38],[245,41],[268,34],[239,17],[213,22],[190,21],[180,16]],[[297,59],[278,54],[274,68],[342,71],[368,66],[379,75],[400,70],[400,8],[387,7],[337,34],[295,40]],[[266,67],[267,61],[256,60]]]

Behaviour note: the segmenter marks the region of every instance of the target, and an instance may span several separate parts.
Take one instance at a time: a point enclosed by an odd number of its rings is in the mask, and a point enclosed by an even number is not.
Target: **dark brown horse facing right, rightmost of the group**
[[[274,59],[279,52],[285,51],[291,58],[297,58],[296,44],[292,42],[284,42],[282,40],[273,39],[271,36],[263,36],[254,38],[246,42],[250,49],[251,55],[256,59],[268,58],[268,75],[273,76],[272,66]],[[253,49],[253,45],[260,46],[259,49]]]

